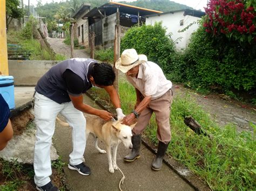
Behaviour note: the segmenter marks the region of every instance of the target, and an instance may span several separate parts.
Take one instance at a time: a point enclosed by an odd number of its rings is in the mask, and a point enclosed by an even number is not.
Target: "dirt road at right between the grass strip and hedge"
[[[232,123],[238,132],[253,132],[249,122],[256,125],[255,105],[241,103],[224,95],[200,95],[178,84],[173,84],[173,89],[174,97],[185,96],[188,93],[220,126]]]

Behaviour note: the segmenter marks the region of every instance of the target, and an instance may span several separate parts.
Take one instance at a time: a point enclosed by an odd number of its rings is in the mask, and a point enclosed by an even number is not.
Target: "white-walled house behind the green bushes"
[[[172,33],[171,38],[177,43],[177,48],[184,49],[192,32],[199,27],[197,21],[204,15],[205,12],[192,9],[163,12],[147,16],[146,25],[162,22],[163,26],[167,28],[166,33]],[[188,29],[181,32],[187,26],[189,26]]]

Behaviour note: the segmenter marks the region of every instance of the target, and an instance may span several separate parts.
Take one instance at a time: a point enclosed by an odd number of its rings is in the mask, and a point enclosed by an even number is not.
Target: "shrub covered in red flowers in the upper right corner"
[[[214,37],[256,43],[255,9],[254,0],[210,0],[203,26]]]

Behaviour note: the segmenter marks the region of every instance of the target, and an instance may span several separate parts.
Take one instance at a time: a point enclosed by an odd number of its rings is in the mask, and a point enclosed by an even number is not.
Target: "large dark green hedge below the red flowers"
[[[256,45],[241,46],[235,41],[215,41],[203,27],[192,34],[184,55],[183,81],[192,87],[219,86],[223,91],[256,88]]]

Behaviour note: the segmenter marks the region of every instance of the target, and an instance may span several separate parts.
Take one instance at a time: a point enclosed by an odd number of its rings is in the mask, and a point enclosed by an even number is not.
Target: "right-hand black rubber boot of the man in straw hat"
[[[167,144],[164,144],[163,142],[158,143],[157,155],[156,155],[156,158],[154,158],[154,161],[152,162],[152,166],[151,166],[151,168],[154,171],[159,171],[161,169],[164,155],[168,148],[168,145],[169,143]]]

